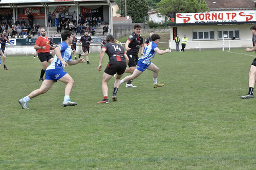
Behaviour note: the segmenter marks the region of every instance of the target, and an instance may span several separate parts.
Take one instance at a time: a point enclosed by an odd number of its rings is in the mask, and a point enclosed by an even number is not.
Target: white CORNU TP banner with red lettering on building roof
[[[176,23],[223,23],[256,21],[255,11],[178,13]]]

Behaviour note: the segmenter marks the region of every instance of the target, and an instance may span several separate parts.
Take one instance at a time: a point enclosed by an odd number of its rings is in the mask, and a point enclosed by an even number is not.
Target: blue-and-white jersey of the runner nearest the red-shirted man
[[[69,45],[65,41],[61,42],[58,45],[58,47],[60,49],[60,53],[61,53],[61,56],[62,56],[63,60],[65,62],[72,61],[72,49],[71,49],[71,47],[69,47]],[[54,59],[51,62],[51,64],[47,67],[47,70],[48,69],[55,69],[55,68],[58,68],[58,67],[62,67],[64,69],[63,64],[61,63],[61,61],[58,59],[58,57],[55,54]]]

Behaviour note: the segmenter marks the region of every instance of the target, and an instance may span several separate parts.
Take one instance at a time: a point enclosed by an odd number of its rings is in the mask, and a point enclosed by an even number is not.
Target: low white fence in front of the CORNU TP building
[[[188,41],[185,47],[185,50],[188,49],[197,49],[199,51],[206,48],[225,48],[230,50],[230,48],[239,48],[239,47],[252,47],[252,40],[218,40],[218,41]],[[176,45],[173,40],[169,40],[170,50],[176,51]],[[181,43],[179,50],[181,50]]]

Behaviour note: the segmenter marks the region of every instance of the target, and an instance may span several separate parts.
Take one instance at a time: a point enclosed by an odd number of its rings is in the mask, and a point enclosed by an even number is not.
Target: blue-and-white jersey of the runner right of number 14
[[[146,64],[146,65],[150,65],[150,61],[151,59],[155,56],[156,52],[155,49],[158,48],[157,44],[155,44],[153,41],[151,41],[150,43],[147,44],[147,46],[145,47],[145,50],[143,52],[143,55],[141,56],[141,58],[139,58],[139,60]]]

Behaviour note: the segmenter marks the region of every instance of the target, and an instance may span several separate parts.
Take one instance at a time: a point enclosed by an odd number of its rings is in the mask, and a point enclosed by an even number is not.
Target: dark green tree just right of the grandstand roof
[[[125,0],[120,1],[120,7],[121,16],[125,16]],[[127,15],[132,17],[133,22],[144,22],[144,16],[147,16],[148,9],[146,0],[126,0]]]

